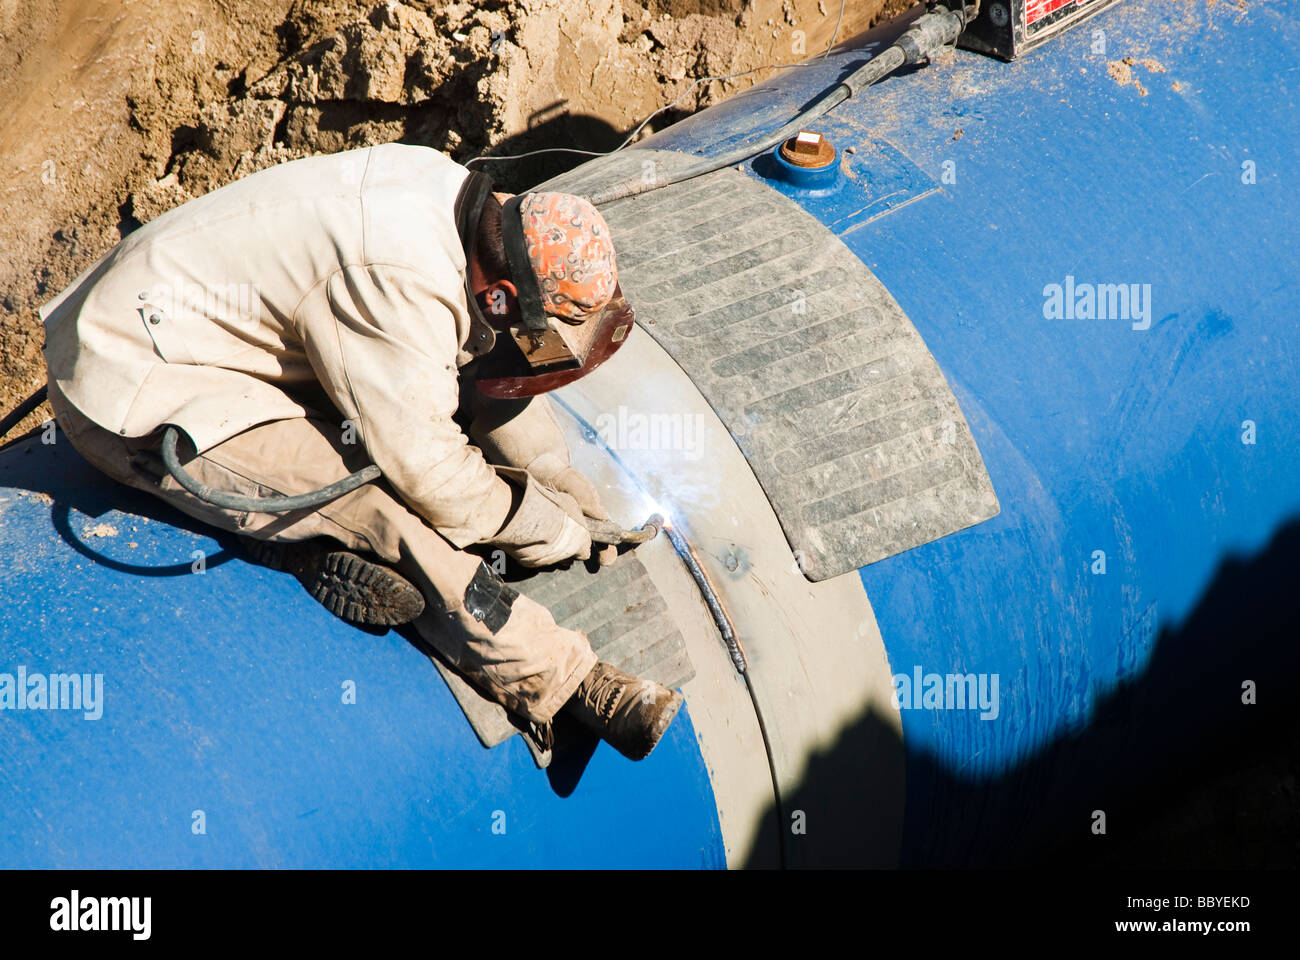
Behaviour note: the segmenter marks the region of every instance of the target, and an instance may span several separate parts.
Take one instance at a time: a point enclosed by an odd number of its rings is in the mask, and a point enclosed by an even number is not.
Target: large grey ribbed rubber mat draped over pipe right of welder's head
[[[690,161],[629,150],[545,189],[585,194]],[[966,419],[920,334],[794,202],[728,168],[602,213],[637,321],[731,431],[810,580],[997,515]]]

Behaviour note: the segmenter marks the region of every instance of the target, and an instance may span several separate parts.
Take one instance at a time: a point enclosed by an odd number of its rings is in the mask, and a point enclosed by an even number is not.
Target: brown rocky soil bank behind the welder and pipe
[[[911,0],[0,0],[0,414],[36,308],[140,224],[272,164],[389,140],[606,151]],[[577,155],[489,165],[507,189]],[[48,407],[10,436],[48,419]]]

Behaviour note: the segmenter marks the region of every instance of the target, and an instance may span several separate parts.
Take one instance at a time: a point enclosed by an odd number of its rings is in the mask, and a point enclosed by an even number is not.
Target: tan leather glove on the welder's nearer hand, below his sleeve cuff
[[[502,548],[525,567],[592,555],[592,535],[573,497],[542,487],[524,470],[497,467],[497,473],[515,488],[519,503],[488,544]]]

